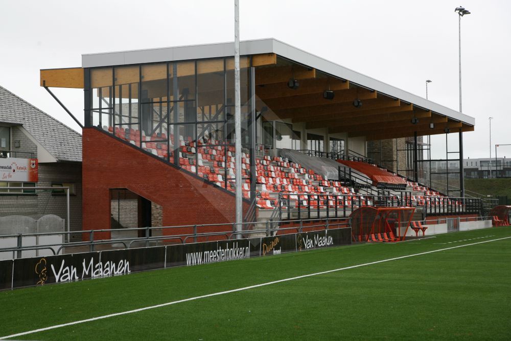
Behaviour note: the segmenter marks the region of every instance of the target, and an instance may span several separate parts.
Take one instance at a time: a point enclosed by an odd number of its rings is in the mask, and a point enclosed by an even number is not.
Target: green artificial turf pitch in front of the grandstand
[[[357,244],[0,292],[0,336],[435,249],[511,228]],[[18,339],[509,339],[511,238],[57,328]]]

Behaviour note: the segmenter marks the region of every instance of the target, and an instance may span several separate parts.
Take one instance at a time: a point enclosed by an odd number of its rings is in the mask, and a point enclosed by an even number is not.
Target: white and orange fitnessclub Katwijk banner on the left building
[[[0,181],[37,183],[37,158],[0,158]]]

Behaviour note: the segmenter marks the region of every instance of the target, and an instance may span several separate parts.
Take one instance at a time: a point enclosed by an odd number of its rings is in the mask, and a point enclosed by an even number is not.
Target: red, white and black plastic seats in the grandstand
[[[174,156],[178,157],[179,165],[198,176],[212,181],[216,185],[226,188],[229,191],[235,190],[235,147],[232,145],[220,145],[220,141],[201,138],[194,140],[192,137],[179,136],[179,155],[174,155],[174,146],[172,144],[174,135],[170,134],[170,144],[165,141],[165,133],[154,133],[147,137],[144,131],[136,129],[121,129],[119,127],[103,127],[110,133],[125,139],[126,141],[142,146],[144,150],[174,162]],[[142,140],[141,140],[142,139]],[[142,141],[142,143],[141,143]],[[244,184],[242,188],[243,196],[250,197],[250,159],[246,152],[242,152],[242,176]],[[275,200],[279,193],[288,195],[288,198],[295,200],[294,207],[339,207],[352,206],[353,198],[360,195],[355,193],[352,188],[344,187],[339,181],[333,181],[324,178],[311,169],[306,169],[298,163],[290,162],[284,157],[264,156],[255,160],[257,172],[257,195],[261,202],[258,206],[262,209],[273,209]],[[439,204],[442,197],[438,192],[419,186],[416,183],[407,185],[414,190],[424,190],[424,195],[412,196],[407,202],[410,206],[424,206],[424,204]],[[335,203],[325,195],[343,194],[347,195],[344,199],[338,199]],[[295,199],[300,195],[310,195],[312,200]],[[319,203],[315,202],[314,196],[320,196]],[[365,200],[362,199],[361,200]],[[292,201],[292,200],[291,200]],[[291,202],[290,201],[290,202]],[[300,202],[301,201],[301,202]],[[317,200],[316,200],[317,202]],[[368,204],[367,201],[364,201]],[[306,204],[305,204],[306,203]],[[454,204],[458,204],[457,202]]]

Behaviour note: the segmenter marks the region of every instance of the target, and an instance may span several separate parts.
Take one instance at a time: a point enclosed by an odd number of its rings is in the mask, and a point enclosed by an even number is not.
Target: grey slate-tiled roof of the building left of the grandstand
[[[82,137],[24,99],[0,86],[0,122],[21,125],[54,161],[82,161]],[[38,150],[38,154],[42,151]]]

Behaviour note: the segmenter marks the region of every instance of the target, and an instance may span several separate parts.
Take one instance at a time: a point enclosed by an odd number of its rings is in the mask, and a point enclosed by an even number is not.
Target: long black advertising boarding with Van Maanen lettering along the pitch
[[[351,228],[0,261],[0,290],[351,244]]]

